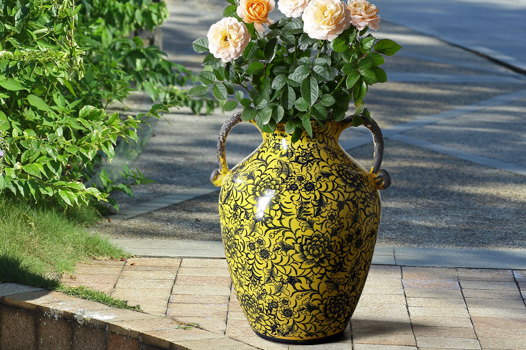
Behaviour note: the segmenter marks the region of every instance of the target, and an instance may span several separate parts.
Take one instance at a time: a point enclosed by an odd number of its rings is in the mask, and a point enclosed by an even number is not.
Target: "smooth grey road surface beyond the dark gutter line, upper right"
[[[524,0],[375,0],[382,19],[526,71]]]

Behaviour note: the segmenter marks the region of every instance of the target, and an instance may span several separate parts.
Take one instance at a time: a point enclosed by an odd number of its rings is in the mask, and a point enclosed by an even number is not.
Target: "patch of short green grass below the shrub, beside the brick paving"
[[[140,311],[139,305],[59,281],[59,276],[73,273],[78,262],[129,256],[107,238],[87,231],[86,226],[98,221],[100,215],[89,207],[64,211],[49,203],[33,205],[0,198],[0,283],[32,285]]]

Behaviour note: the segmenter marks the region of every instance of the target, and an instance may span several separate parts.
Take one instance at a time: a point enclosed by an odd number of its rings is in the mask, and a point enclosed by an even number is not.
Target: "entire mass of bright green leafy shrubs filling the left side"
[[[128,38],[166,18],[165,4],[150,0],[0,1],[0,192],[64,207],[131,193],[127,184],[99,191],[83,181],[102,157],[112,160],[117,138],[136,140],[146,117],[188,104],[174,85],[193,76]],[[134,86],[163,102],[126,118],[105,111]],[[128,178],[144,181],[140,172]]]

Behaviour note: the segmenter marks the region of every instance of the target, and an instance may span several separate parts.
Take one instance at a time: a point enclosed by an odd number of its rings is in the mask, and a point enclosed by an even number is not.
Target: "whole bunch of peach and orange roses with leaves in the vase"
[[[219,100],[234,96],[224,110],[241,104],[242,119],[254,120],[264,132],[283,123],[292,141],[304,129],[312,136],[312,120],[320,125],[341,121],[351,100],[352,125],[361,125],[360,115],[369,116],[363,105],[368,86],[387,80],[379,67],[382,55],[401,48],[366,35],[368,28],[379,26],[375,5],[364,0],[279,0],[285,17],[274,22],[268,17],[274,0],[228,2],[232,5],[207,38],[194,42],[197,53],[209,54],[198,76],[203,85],[190,89],[188,96],[204,95],[209,88]]]

